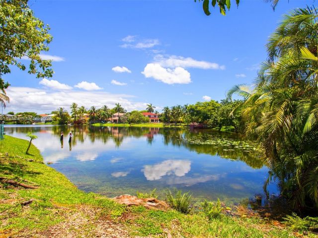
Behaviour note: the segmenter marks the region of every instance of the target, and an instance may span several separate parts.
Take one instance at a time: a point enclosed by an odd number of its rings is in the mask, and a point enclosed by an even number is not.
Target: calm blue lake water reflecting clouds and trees
[[[45,163],[79,189],[108,197],[154,188],[160,195],[165,188],[177,188],[195,199],[240,202],[263,194],[268,174],[255,144],[233,133],[40,125],[5,125],[4,131],[22,139],[31,131]]]

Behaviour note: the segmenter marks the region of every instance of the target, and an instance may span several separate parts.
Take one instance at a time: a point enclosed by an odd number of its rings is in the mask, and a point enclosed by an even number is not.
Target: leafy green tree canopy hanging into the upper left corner
[[[49,26],[36,18],[27,4],[28,0],[0,0],[0,90],[5,96],[9,86],[3,75],[10,73],[10,65],[25,70],[21,60],[29,60],[28,73],[37,78],[51,77],[54,73],[51,60],[41,59],[52,41]],[[8,101],[0,95],[0,101]]]

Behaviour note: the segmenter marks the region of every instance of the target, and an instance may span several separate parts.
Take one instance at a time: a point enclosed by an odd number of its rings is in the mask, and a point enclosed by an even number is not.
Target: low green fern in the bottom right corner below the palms
[[[283,219],[285,220],[283,223],[289,226],[292,230],[308,231],[318,229],[318,217],[301,218],[297,216],[296,213],[293,213],[291,216],[287,215]]]

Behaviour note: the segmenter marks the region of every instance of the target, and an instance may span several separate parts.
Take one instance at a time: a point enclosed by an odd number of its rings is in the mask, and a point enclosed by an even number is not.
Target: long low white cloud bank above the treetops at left
[[[75,102],[85,108],[96,106],[100,108],[107,105],[110,108],[120,103],[127,111],[144,110],[144,102],[133,102],[135,96],[126,94],[112,94],[96,91],[51,91],[38,88],[9,87],[6,90],[10,102],[6,110],[18,112],[46,113],[63,107],[69,110]]]

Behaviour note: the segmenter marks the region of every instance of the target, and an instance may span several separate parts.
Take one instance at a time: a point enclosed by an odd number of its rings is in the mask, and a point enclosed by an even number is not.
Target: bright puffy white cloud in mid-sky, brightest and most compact
[[[142,74],[146,78],[155,78],[167,84],[187,84],[191,83],[190,73],[182,67],[174,69],[164,68],[158,63],[148,63]]]

